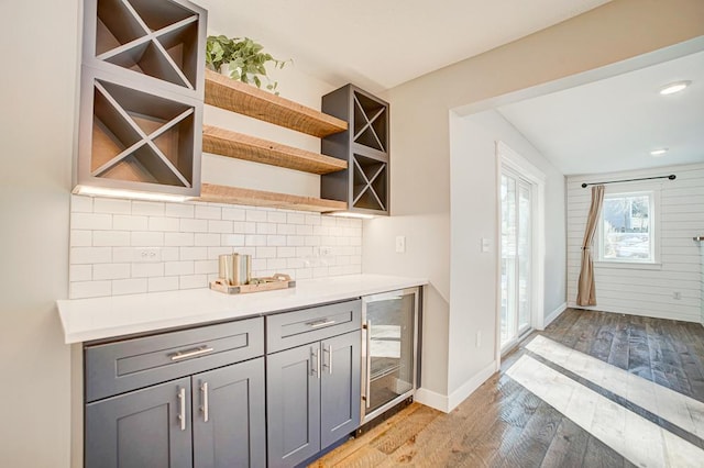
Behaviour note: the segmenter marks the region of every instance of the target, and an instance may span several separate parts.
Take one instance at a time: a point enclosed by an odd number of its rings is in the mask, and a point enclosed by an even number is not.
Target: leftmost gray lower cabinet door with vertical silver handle
[[[87,468],[190,467],[190,379],[86,404]]]

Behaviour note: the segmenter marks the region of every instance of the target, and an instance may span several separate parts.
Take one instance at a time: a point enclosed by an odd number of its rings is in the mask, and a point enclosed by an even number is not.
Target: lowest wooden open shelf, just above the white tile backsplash
[[[196,201],[215,203],[250,204],[253,207],[282,208],[285,210],[301,210],[326,213],[346,209],[346,203],[336,200],[323,200],[314,197],[299,197],[286,193],[267,192],[262,190],[241,189],[238,187],[202,183],[200,197]]]

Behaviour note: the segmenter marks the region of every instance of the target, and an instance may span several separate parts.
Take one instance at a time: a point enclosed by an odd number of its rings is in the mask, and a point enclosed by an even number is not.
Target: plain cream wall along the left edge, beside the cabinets
[[[0,86],[0,466],[66,467],[68,203],[78,0],[3,2]]]

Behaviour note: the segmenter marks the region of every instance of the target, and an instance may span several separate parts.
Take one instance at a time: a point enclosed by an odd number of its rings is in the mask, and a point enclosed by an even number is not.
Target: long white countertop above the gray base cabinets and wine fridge
[[[262,315],[427,285],[427,280],[349,275],[296,281],[278,291],[228,296],[209,289],[56,301],[67,344]]]

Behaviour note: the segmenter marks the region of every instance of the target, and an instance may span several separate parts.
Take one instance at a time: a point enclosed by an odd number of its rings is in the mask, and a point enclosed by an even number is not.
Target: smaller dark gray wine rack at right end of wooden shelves
[[[389,213],[389,105],[346,85],[322,97],[322,112],[348,122],[327,136],[321,153],[348,161],[348,169],[320,178],[320,196],[348,203],[348,211]]]

